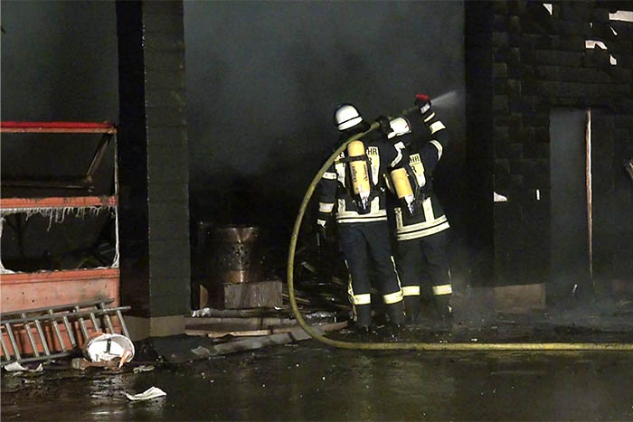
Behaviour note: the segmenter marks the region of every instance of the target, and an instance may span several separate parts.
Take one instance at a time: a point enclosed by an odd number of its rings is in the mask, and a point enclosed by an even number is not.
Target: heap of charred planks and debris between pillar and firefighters
[[[312,238],[311,238],[312,239]],[[312,239],[314,240],[314,239]],[[351,305],[347,295],[347,277],[337,277],[345,268],[343,261],[336,257],[326,257],[314,242],[300,245],[297,250],[297,280],[294,296],[299,312],[306,323],[318,333],[344,330],[350,318]],[[285,264],[284,264],[285,267]],[[250,278],[238,283],[242,293],[260,295],[257,282],[276,280],[284,268],[270,268],[269,276]],[[345,269],[346,271],[346,269]],[[268,273],[267,273],[268,274]],[[212,277],[212,275],[207,275]],[[226,309],[203,307],[185,317],[185,334],[193,341],[186,353],[165,349],[162,354],[168,361],[184,359],[209,359],[232,352],[250,351],[270,345],[288,345],[311,338],[298,324],[289,305],[286,284],[281,285],[281,305],[252,305],[251,302],[227,302],[224,283],[224,301],[208,301],[206,305],[216,305]],[[245,294],[246,294],[245,293]],[[264,303],[262,301],[259,301]],[[202,302],[201,302],[202,304]],[[240,305],[242,304],[242,305]]]

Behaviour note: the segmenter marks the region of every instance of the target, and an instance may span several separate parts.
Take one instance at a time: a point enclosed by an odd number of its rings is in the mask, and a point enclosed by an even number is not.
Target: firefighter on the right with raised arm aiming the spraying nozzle
[[[411,212],[402,205],[394,207],[398,271],[402,279],[407,323],[418,320],[421,295],[425,299],[433,298],[439,318],[449,324],[452,295],[447,249],[449,221],[433,192],[431,177],[449,139],[446,127],[430,107],[430,99],[418,95],[416,105],[420,111],[416,110],[407,118],[423,131],[413,131],[413,125],[403,117],[391,122],[392,142],[406,145],[406,176],[420,210]],[[429,132],[430,140],[427,139]],[[392,172],[392,183],[397,182]],[[398,196],[401,196],[400,193]]]

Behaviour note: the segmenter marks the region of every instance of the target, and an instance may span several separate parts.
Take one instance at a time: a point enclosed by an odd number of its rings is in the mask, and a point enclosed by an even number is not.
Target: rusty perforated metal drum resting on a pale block
[[[220,284],[259,281],[260,229],[256,226],[229,226],[213,230],[213,277]]]

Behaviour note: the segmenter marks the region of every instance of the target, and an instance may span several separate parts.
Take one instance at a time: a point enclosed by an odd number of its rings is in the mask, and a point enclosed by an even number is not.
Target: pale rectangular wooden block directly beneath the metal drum
[[[282,282],[260,281],[224,285],[224,307],[241,309],[283,305]]]

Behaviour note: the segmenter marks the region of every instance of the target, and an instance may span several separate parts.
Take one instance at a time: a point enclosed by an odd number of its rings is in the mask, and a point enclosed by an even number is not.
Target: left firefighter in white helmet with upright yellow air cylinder
[[[369,129],[370,125],[351,104],[335,110],[338,145]],[[370,265],[376,273],[390,322],[404,323],[402,288],[395,268],[387,223],[384,176],[402,165],[402,150],[383,132],[374,130],[350,143],[324,173],[319,189],[317,224],[325,228],[335,220],[339,246],[349,269],[348,293],[356,327],[369,332],[372,324]],[[362,194],[361,194],[362,192]]]

